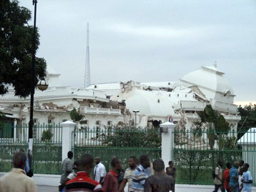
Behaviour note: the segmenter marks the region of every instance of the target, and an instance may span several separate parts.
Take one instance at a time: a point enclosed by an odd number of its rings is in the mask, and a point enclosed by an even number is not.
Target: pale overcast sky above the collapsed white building
[[[38,0],[37,56],[62,86],[83,87],[87,22],[92,84],[176,81],[217,61],[235,101],[256,102],[254,0]]]

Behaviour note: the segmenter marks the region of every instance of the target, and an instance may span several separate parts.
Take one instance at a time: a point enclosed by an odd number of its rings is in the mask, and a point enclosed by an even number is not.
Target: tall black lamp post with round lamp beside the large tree
[[[33,33],[33,55],[32,55],[32,70],[31,70],[31,91],[30,91],[30,119],[29,119],[29,150],[30,150],[30,155],[32,154],[32,146],[33,146],[33,112],[34,112],[34,93],[35,93],[35,52],[36,52],[36,47],[35,47],[35,36],[36,36],[36,4],[37,0],[33,0],[33,5],[35,6],[35,11],[34,11],[34,33]],[[37,84],[38,89],[41,91],[44,91],[48,88],[48,82],[42,82],[45,80],[40,80]],[[30,167],[32,163],[30,160]]]

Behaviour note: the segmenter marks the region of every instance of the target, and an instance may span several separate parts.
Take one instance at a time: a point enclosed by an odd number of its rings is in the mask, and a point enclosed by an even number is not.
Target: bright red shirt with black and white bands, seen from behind
[[[87,172],[77,172],[74,179],[66,182],[67,191],[94,191],[103,192],[101,184],[90,178]],[[88,190],[87,190],[88,189]]]

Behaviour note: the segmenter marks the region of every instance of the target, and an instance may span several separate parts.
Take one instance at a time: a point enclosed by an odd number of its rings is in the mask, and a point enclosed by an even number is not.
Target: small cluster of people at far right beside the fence
[[[223,161],[218,162],[218,166],[214,170],[214,185],[217,192],[251,192],[252,177],[249,172],[249,164],[243,160],[226,163],[226,169],[223,172]]]

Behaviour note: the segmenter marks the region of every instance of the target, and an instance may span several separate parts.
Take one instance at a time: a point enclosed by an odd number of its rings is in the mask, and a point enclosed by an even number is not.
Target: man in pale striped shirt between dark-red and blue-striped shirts
[[[128,182],[128,192],[132,189],[132,182],[133,182],[133,174],[134,170],[137,167],[137,159],[134,156],[129,157],[128,159],[128,165],[129,167],[126,168],[124,172],[123,181],[118,189],[119,192],[122,192],[126,183]]]

